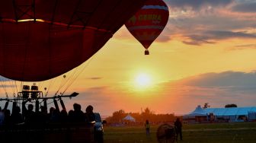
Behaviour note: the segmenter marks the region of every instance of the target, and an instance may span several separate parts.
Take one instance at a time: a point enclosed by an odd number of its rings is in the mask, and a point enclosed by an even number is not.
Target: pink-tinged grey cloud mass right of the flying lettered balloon
[[[171,39],[187,45],[214,44],[229,38],[255,38],[253,0],[170,0]],[[251,12],[251,13],[250,13]],[[250,43],[251,44],[251,43]]]

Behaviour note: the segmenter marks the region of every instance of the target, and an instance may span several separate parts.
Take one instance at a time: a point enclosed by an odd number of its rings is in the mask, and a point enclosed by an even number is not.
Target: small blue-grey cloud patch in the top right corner
[[[245,1],[238,3],[232,7],[232,11],[237,12],[256,12],[256,2],[255,1]]]

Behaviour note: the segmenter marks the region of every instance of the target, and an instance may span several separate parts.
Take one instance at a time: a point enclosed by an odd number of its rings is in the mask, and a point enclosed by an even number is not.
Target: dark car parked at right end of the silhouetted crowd
[[[104,142],[104,129],[103,124],[107,123],[105,120],[101,121],[100,113],[94,113],[95,124],[94,124],[94,141]]]

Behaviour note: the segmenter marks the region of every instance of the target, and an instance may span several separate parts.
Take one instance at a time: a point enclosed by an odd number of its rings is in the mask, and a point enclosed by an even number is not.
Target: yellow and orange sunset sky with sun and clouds
[[[181,115],[204,103],[256,106],[256,1],[165,3],[168,24],[150,46],[150,55],[144,56],[142,45],[121,27],[78,67],[81,73],[66,93],[79,95],[65,100],[68,109],[80,103],[83,110],[91,104],[102,115],[146,107]]]

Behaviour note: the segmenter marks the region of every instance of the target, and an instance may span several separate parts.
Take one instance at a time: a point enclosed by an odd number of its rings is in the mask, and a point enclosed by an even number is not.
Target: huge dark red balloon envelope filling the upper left
[[[0,2],[0,75],[43,81],[81,65],[145,0]]]

